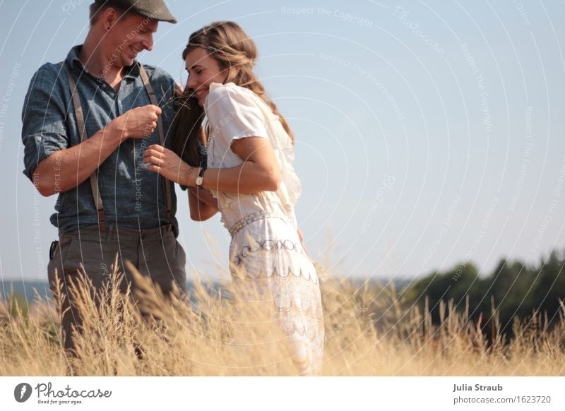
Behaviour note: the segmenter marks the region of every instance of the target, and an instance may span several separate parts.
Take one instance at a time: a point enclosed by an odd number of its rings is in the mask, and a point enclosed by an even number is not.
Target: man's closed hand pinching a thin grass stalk
[[[154,105],[145,105],[131,109],[114,119],[109,125],[114,128],[120,141],[126,138],[143,138],[153,134],[161,109]]]

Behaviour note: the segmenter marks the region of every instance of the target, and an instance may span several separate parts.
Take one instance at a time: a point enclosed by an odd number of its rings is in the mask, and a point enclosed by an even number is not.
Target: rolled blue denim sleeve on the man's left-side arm
[[[22,109],[23,164],[33,179],[35,167],[57,150],[69,147],[66,109],[57,69],[45,64],[32,77]]]

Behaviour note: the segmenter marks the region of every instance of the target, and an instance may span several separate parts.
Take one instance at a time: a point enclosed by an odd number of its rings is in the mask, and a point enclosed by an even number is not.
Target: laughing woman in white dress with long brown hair
[[[317,374],[323,317],[319,280],[297,230],[294,139],[253,72],[257,54],[237,23],[194,32],[182,54],[189,80],[177,114],[176,153],[151,145],[144,162],[189,186],[194,220],[220,210],[232,236],[232,280],[268,294],[299,373]]]

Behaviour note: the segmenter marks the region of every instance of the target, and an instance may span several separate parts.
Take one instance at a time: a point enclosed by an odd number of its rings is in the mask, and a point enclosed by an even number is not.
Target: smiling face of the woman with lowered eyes
[[[210,91],[211,83],[223,83],[226,71],[220,68],[220,64],[208,54],[206,49],[193,47],[186,54],[186,71],[189,72],[189,81],[186,87],[196,92],[198,105],[203,107],[206,96]]]

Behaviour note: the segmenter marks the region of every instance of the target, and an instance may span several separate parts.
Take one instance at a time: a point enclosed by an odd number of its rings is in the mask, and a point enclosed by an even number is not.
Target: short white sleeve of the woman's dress
[[[263,112],[249,93],[231,83],[210,86],[204,109],[214,140],[230,146],[239,138],[269,138]]]

